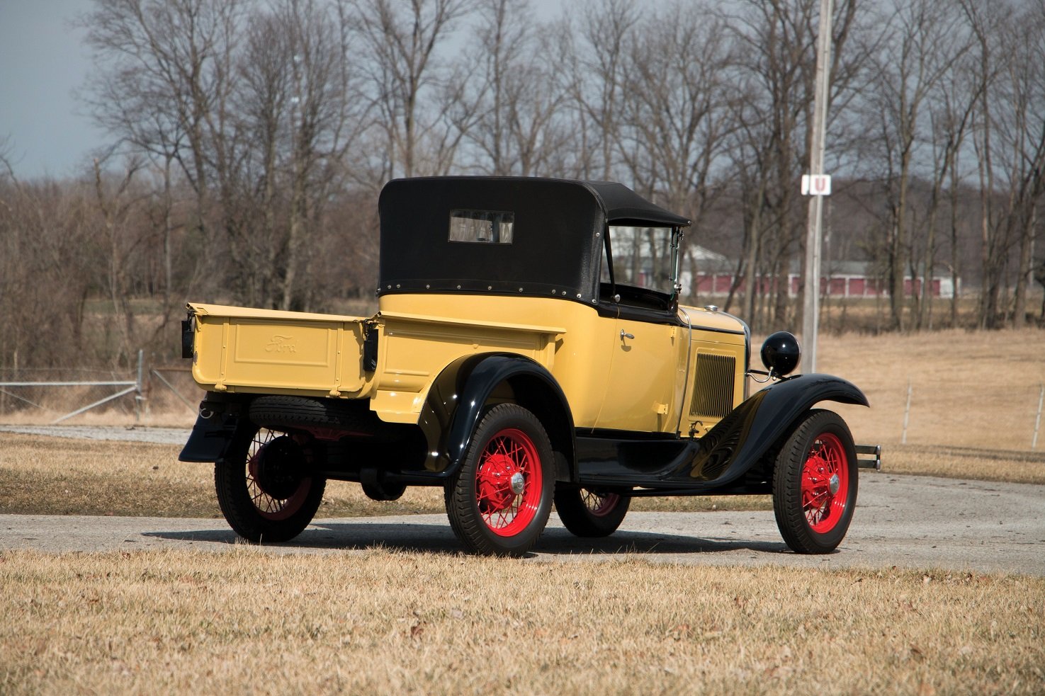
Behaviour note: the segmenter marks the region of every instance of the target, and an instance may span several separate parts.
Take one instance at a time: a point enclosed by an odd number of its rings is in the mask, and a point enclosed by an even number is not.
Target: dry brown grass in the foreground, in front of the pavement
[[[0,555],[0,693],[1040,694],[1045,579]]]

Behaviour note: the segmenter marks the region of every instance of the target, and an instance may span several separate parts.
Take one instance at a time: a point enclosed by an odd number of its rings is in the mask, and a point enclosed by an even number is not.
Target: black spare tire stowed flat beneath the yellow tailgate
[[[251,401],[251,421],[277,430],[323,428],[345,435],[373,435],[375,423],[359,403],[306,396],[259,396]],[[365,404],[364,404],[365,405]]]

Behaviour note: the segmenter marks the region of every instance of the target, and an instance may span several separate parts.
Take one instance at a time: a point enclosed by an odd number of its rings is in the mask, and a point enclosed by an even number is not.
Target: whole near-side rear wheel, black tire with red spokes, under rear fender
[[[522,556],[552,511],[552,444],[536,416],[520,405],[490,409],[446,484],[446,515],[469,551]]]

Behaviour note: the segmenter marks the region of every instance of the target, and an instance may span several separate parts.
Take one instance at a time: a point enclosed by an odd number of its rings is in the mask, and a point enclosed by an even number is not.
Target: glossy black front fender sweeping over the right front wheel
[[[672,478],[727,485],[743,477],[819,401],[870,405],[855,385],[829,374],[781,380],[757,392],[700,438]]]

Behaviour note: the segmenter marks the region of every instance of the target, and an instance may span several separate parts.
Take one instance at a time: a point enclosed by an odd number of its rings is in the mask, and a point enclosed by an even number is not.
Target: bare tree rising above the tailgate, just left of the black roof
[[[236,113],[254,143],[240,195],[257,201],[260,221],[237,248],[258,301],[283,309],[308,294],[299,278],[318,221],[366,127],[348,34],[345,15],[282,0],[252,17],[238,61]]]

